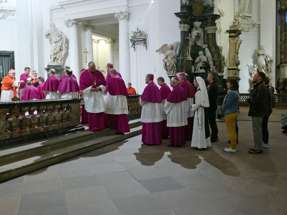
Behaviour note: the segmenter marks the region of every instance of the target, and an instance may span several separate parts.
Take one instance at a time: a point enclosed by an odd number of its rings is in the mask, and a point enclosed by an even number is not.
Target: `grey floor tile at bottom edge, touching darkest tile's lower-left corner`
[[[121,214],[147,214],[164,211],[166,208],[151,194],[112,199]]]

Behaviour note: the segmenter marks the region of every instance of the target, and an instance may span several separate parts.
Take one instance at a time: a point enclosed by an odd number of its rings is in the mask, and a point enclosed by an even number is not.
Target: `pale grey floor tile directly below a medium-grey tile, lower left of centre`
[[[103,186],[68,189],[64,193],[68,205],[110,199]]]

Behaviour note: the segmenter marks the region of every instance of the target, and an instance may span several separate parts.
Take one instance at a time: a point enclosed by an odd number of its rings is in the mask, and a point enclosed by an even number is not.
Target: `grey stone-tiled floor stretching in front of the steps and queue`
[[[274,109],[269,148],[248,154],[253,133],[240,108],[239,144],[224,122],[206,150],[141,144],[141,135],[0,184],[0,214],[287,214],[287,134]]]

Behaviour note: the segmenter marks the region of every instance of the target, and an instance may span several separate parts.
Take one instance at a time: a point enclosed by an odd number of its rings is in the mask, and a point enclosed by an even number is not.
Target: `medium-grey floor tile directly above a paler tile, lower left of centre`
[[[64,190],[101,185],[96,175],[84,175],[61,178]]]

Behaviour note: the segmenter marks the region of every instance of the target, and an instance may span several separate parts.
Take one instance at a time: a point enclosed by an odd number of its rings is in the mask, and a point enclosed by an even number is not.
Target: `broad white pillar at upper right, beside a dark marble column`
[[[276,68],[276,1],[260,1],[260,45],[264,46],[266,54],[273,58],[271,66],[271,83],[275,87],[275,68]],[[258,47],[259,48],[259,47]]]

